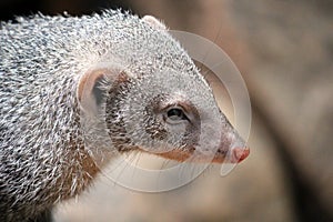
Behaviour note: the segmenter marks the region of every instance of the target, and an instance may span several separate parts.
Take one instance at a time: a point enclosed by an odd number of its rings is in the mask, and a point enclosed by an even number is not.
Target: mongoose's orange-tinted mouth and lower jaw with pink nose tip
[[[211,155],[194,155],[193,152],[186,150],[171,150],[164,153],[152,153],[165,159],[175,160],[179,162],[198,162],[198,163],[240,163],[246,159],[250,154],[250,149],[245,148],[233,148],[231,152],[225,153],[216,152],[212,158]]]

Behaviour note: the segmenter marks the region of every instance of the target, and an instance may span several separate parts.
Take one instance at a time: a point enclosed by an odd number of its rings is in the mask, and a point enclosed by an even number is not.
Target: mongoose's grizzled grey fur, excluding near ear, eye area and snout
[[[132,79],[119,98],[104,101],[114,147],[87,147],[79,80],[88,70],[113,64]],[[113,93],[108,78],[100,85],[107,97]],[[147,104],[159,91],[192,98],[199,110],[211,108],[212,117],[221,115],[209,85],[180,44],[167,30],[135,16],[108,10],[81,18],[38,14],[1,23],[0,221],[48,216],[54,203],[79,194],[99,171],[91,149],[122,151],[134,149],[133,143],[185,149],[184,140],[167,138],[158,124],[148,125],[157,120],[147,117],[151,110]],[[117,128],[132,123],[129,131]]]

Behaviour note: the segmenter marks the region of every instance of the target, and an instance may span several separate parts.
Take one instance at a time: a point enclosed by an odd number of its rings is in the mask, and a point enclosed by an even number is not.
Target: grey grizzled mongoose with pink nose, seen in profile
[[[222,132],[210,139],[219,143],[212,162],[249,154],[153,17],[17,18],[1,23],[0,52],[0,221],[37,220],[82,192],[115,152],[191,160],[205,123],[212,137]]]

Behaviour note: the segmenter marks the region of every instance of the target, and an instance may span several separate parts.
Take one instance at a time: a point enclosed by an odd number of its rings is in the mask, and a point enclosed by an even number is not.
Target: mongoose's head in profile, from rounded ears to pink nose
[[[131,42],[122,42],[128,48],[122,54],[105,53],[78,83],[81,109],[102,119],[112,148],[176,161],[236,163],[245,159],[245,142],[164,24],[144,17],[135,26],[147,30],[145,37],[134,34]]]

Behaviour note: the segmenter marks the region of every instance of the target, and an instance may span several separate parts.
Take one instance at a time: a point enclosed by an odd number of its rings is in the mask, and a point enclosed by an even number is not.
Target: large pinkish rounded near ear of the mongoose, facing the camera
[[[78,83],[77,98],[80,108],[92,115],[98,114],[99,107],[105,94],[103,81],[108,79],[110,83],[115,81],[123,73],[120,69],[95,69],[84,73]]]

